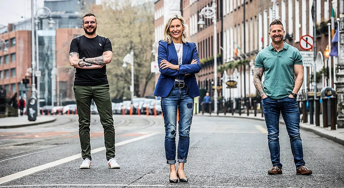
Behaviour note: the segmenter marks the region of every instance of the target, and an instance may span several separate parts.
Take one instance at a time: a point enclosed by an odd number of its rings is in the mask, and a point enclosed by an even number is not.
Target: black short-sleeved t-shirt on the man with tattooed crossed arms
[[[85,35],[78,36],[72,40],[71,48],[69,49],[69,53],[78,53],[79,59],[83,57],[99,57],[106,51],[112,52],[111,42],[108,38],[99,35],[94,38],[87,38]],[[95,69],[76,68],[75,86],[97,86],[108,83],[106,65]]]

